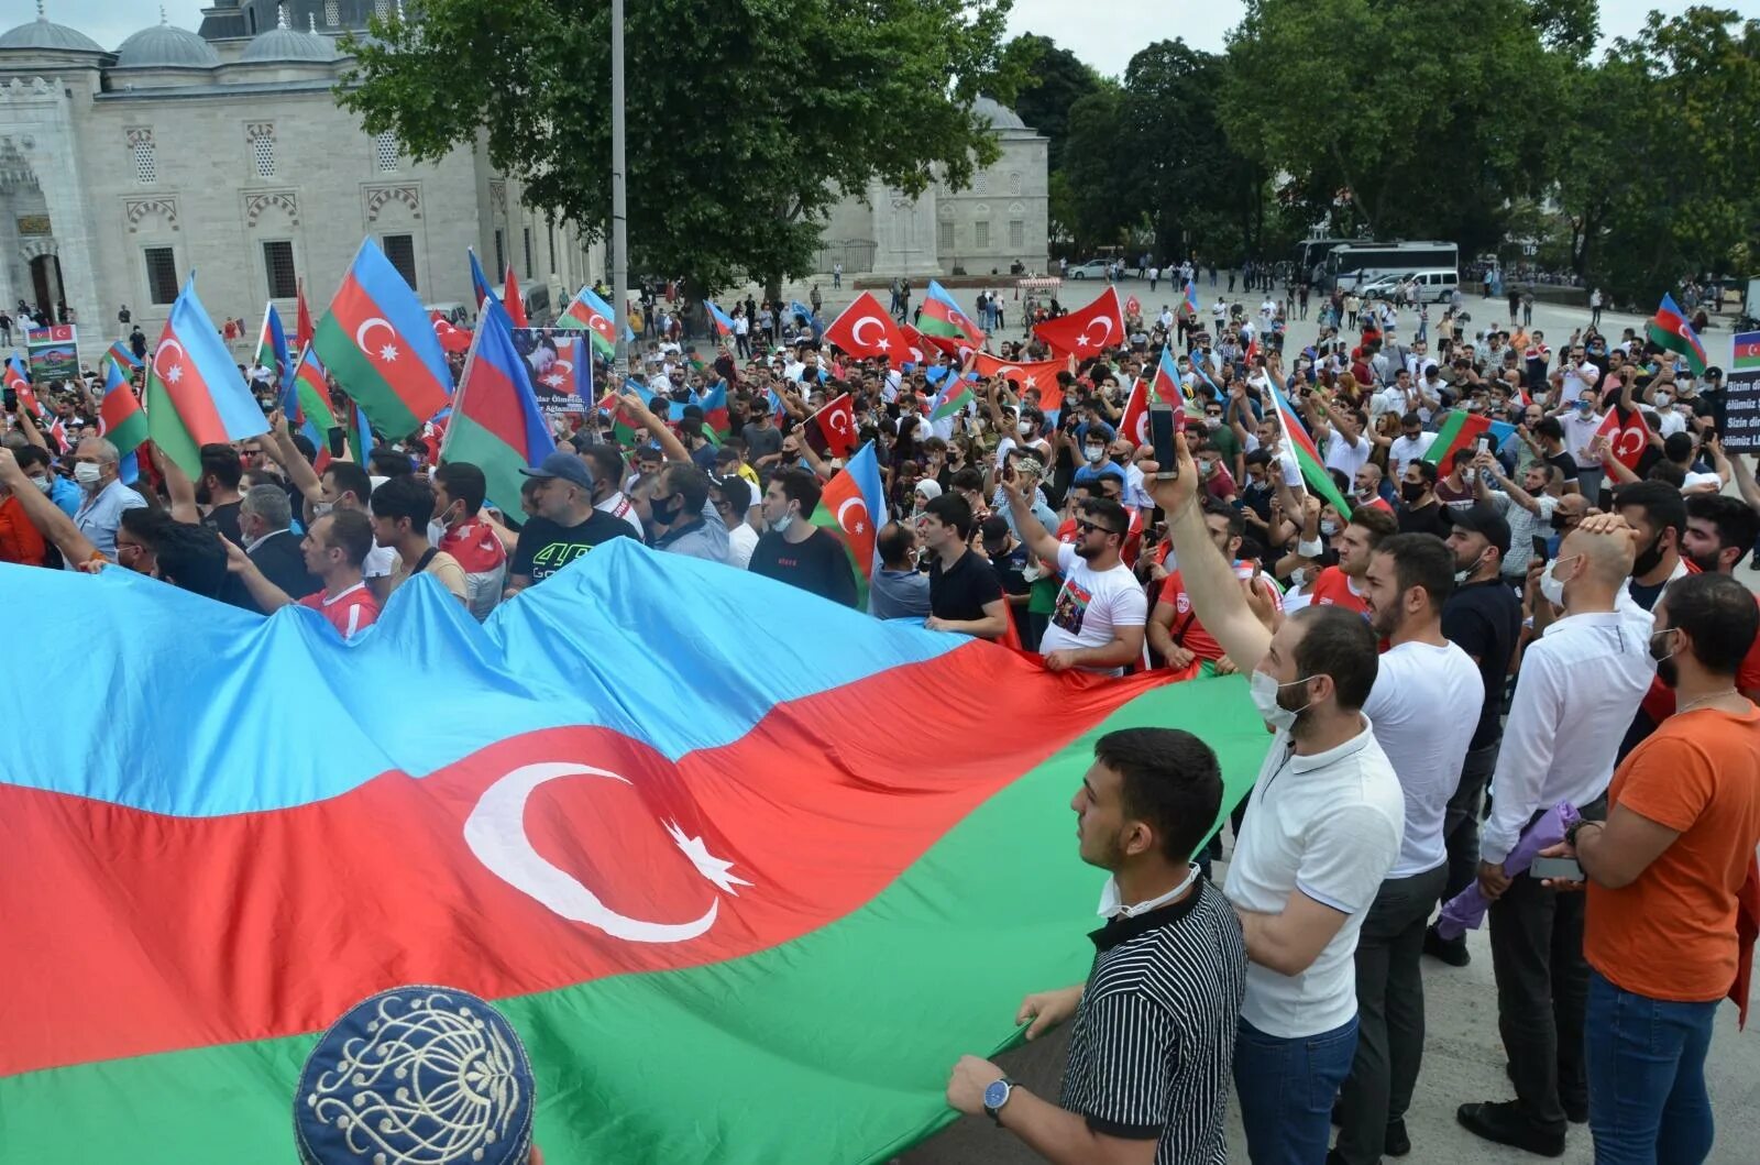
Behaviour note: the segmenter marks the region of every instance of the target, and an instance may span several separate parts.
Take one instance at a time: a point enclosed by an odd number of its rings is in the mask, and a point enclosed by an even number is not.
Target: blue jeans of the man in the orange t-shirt
[[[1589,971],[1584,1052],[1596,1165],[1698,1165],[1711,1156],[1705,1052],[1712,1003],[1633,994]]]

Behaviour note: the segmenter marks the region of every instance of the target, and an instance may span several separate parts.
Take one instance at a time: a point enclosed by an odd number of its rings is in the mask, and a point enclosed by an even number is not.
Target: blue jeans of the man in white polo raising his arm
[[[1357,1017],[1332,1031],[1290,1040],[1244,1019],[1234,1040],[1234,1089],[1253,1165],[1322,1165],[1332,1102],[1357,1054]]]

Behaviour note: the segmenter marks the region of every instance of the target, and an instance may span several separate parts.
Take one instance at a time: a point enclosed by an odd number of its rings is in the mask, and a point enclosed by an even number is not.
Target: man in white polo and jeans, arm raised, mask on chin
[[[1241,1123],[1255,1161],[1318,1163],[1357,1049],[1357,933],[1404,834],[1399,781],[1362,714],[1375,634],[1338,605],[1269,632],[1209,539],[1183,436],[1177,451],[1177,477],[1151,480],[1192,609],[1230,658],[1257,660],[1253,702],[1276,729],[1223,887],[1251,961],[1234,1052]]]

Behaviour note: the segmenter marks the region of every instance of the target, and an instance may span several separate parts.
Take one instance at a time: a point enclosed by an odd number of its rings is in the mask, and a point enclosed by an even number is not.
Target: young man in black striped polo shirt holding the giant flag
[[[1107,924],[1091,934],[1088,982],[1031,994],[1016,1015],[1030,1040],[1075,1017],[1063,1096],[966,1056],[947,1103],[987,1112],[1051,1161],[1220,1165],[1246,945],[1190,861],[1221,808],[1216,753],[1174,729],[1109,732],[1072,808],[1082,861],[1112,871]]]

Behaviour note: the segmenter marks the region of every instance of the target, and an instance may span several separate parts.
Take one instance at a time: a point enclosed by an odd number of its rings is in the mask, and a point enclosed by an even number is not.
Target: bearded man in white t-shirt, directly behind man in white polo
[[[1339,1103],[1336,1160],[1404,1156],[1406,1109],[1424,1058],[1424,922],[1448,875],[1443,822],[1478,727],[1484,681],[1441,634],[1456,560],[1441,539],[1397,533],[1369,556],[1369,630],[1389,644],[1362,706],[1404,794],[1399,857],[1357,936],[1357,1054]]]

